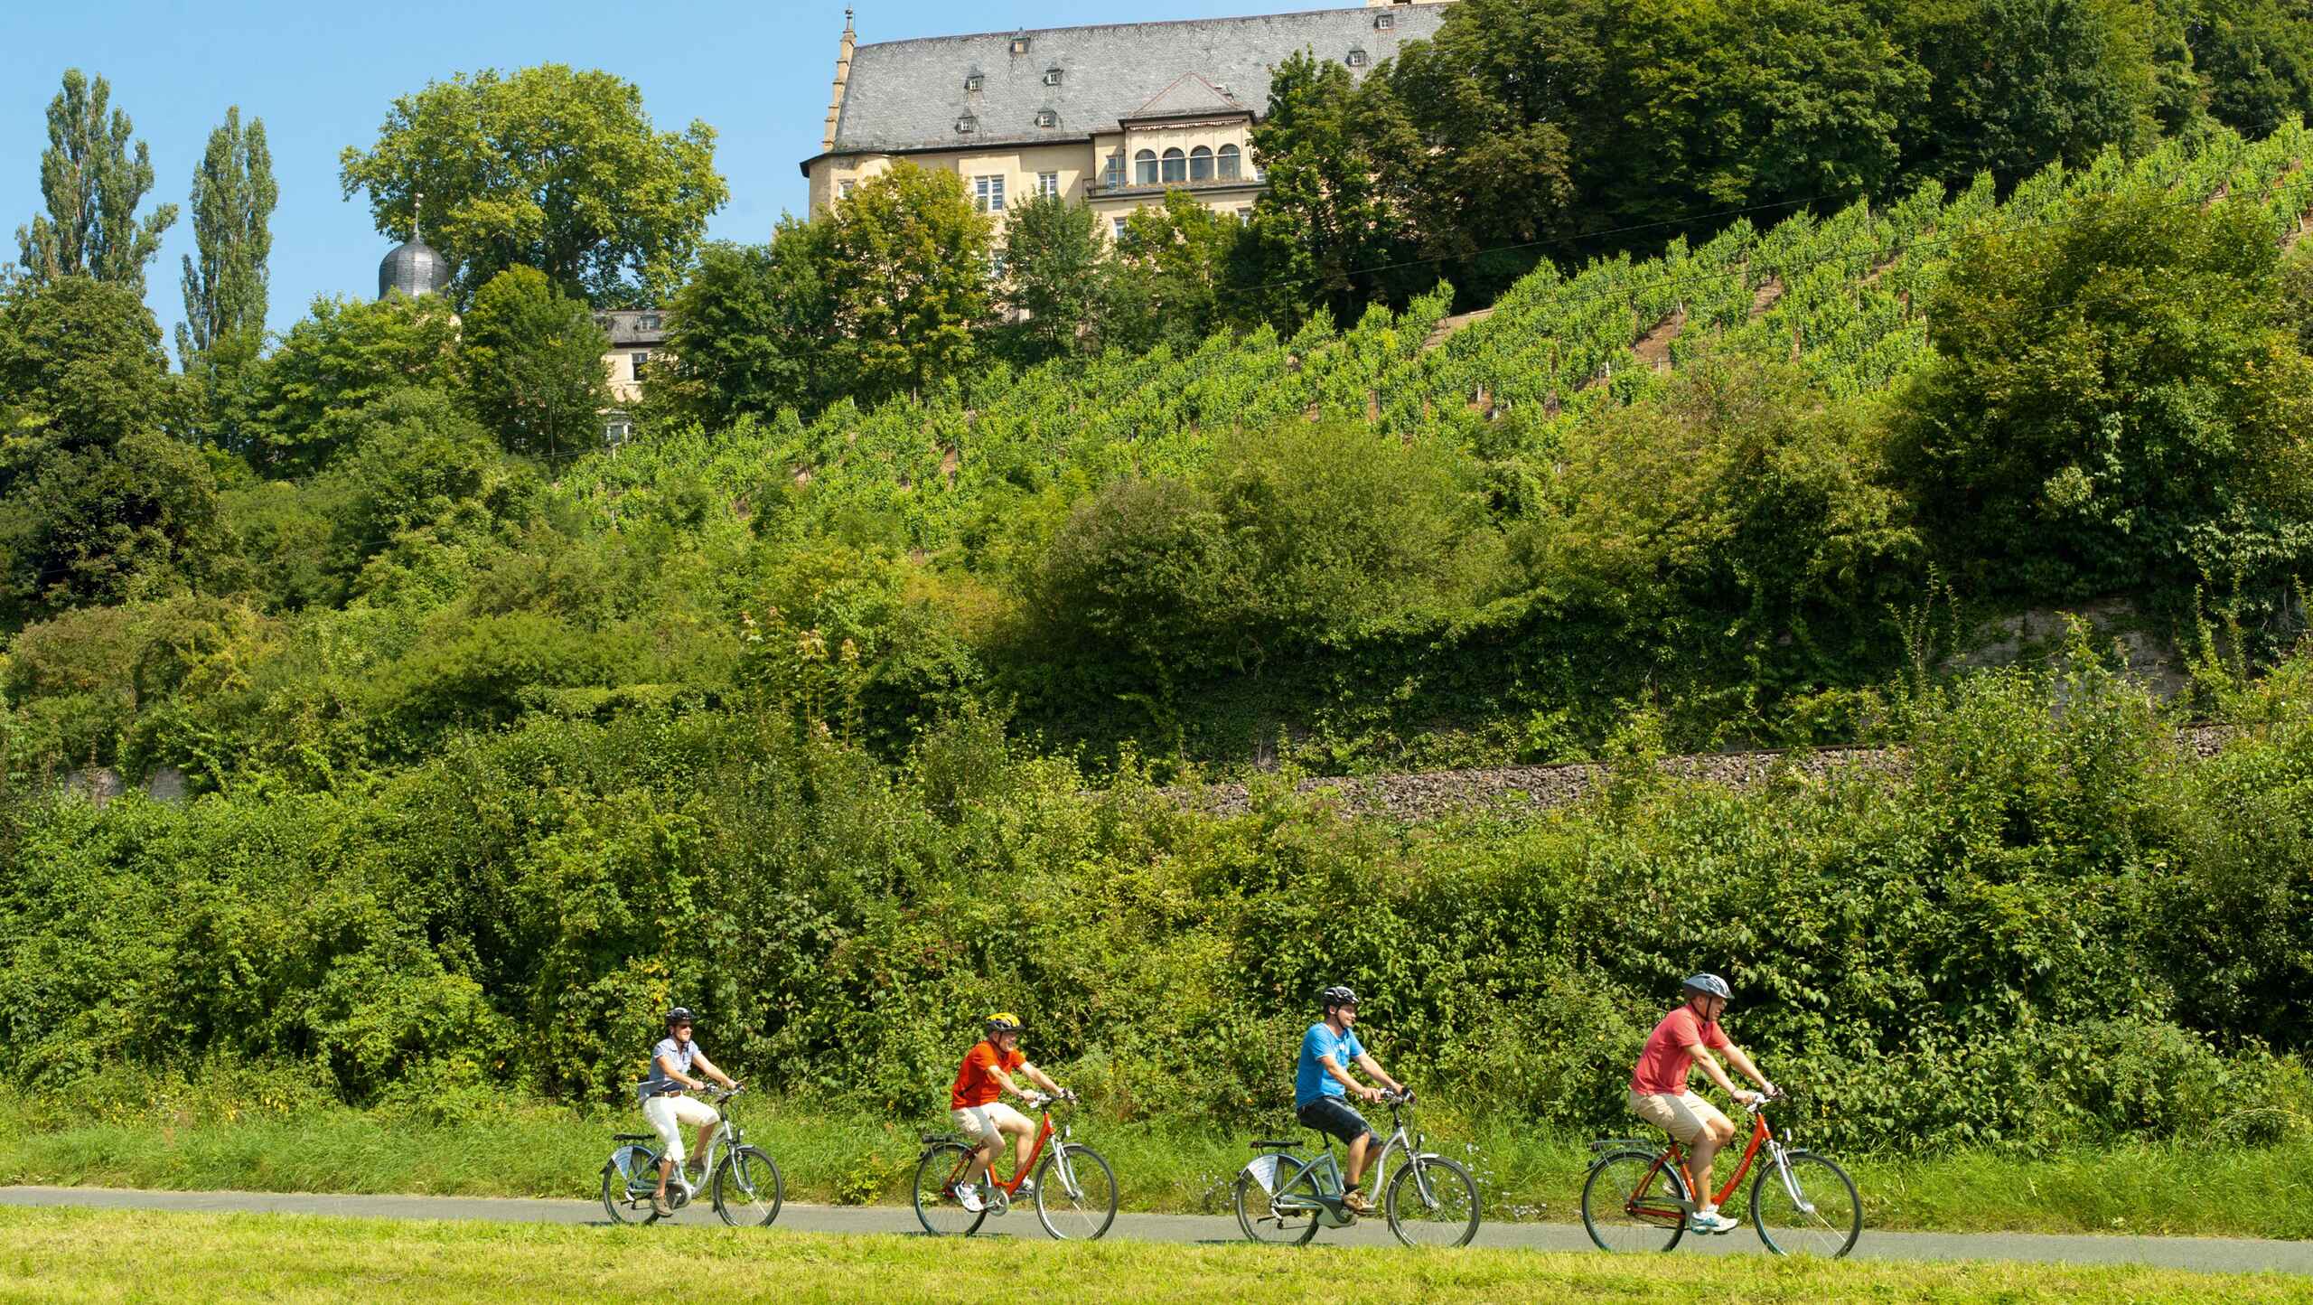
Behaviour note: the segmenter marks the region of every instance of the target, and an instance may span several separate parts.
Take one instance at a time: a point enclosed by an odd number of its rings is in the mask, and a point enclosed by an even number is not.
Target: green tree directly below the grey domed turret
[[[458,317],[437,296],[315,298],[250,379],[252,419],[236,451],[273,474],[308,474],[338,444],[322,421],[409,386],[446,386]]]

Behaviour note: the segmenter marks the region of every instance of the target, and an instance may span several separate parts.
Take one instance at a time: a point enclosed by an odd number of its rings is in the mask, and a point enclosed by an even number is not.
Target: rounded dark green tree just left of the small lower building
[[[611,338],[585,303],[537,268],[507,268],[474,294],[458,377],[509,454],[557,460],[601,444]]]

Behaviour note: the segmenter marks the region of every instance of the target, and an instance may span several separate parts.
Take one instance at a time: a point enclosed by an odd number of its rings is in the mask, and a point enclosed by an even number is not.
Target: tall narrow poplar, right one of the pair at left
[[[192,241],[185,257],[185,322],[176,354],[190,373],[217,345],[254,345],[266,329],[266,259],[273,252],[273,153],[264,118],[241,127],[241,106],[208,134],[208,153],[192,171]]]

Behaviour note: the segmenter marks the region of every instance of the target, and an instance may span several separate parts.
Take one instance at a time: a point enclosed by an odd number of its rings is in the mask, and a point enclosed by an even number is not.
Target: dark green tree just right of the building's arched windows
[[[1402,250],[1404,220],[1381,183],[1376,118],[1351,72],[1300,51],[1277,65],[1270,113],[1254,127],[1254,160],[1268,192],[1254,206],[1249,271],[1265,317],[1293,319],[1314,308],[1353,317],[1420,273],[1381,271]],[[1427,280],[1434,280],[1427,278]]]

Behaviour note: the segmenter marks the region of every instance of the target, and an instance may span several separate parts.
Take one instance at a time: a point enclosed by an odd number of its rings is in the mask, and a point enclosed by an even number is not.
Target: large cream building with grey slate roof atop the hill
[[[819,153],[803,160],[812,211],[911,160],[951,169],[983,213],[1029,194],[1124,218],[1187,190],[1251,211],[1265,187],[1251,127],[1270,72],[1300,51],[1355,74],[1436,32],[1450,0],[1372,0],[1249,19],[1101,23],[856,44],[851,12]]]

